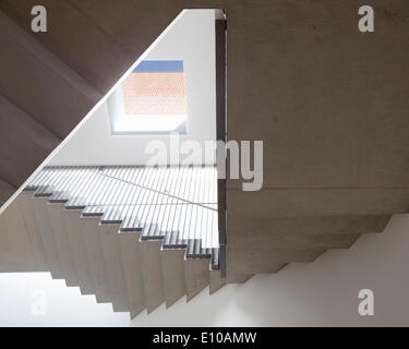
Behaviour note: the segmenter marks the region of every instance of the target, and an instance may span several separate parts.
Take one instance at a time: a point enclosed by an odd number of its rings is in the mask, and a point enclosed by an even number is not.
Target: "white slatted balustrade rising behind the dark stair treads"
[[[189,181],[190,176],[194,179]],[[194,191],[189,193],[190,186],[195,188],[201,180],[214,176],[213,167],[194,170],[57,167],[44,169],[26,189],[36,189],[37,195],[50,195],[50,202],[65,202],[68,209],[83,209],[84,216],[101,216],[101,224],[121,224],[122,231],[142,231],[144,240],[163,239],[168,231],[179,230],[184,234],[183,239],[193,233],[203,239],[202,244],[210,248],[217,246],[218,240],[215,193],[210,193],[210,189],[202,192],[202,196],[197,196],[199,202],[206,203],[199,206],[195,202],[183,202],[172,195],[180,193],[187,200],[189,195],[194,198]],[[183,184],[184,181],[190,186]],[[196,225],[197,219],[202,219],[203,224]],[[191,255],[199,256],[202,252],[208,255],[208,251],[203,249]]]

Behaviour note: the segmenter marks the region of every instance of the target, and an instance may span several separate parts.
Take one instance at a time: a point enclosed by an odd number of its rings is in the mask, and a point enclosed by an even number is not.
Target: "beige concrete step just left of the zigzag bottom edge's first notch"
[[[46,252],[44,251],[43,239],[39,232],[36,215],[32,205],[33,192],[23,191],[19,197],[20,210],[22,213],[27,236],[32,244],[34,258],[38,272],[49,272]]]

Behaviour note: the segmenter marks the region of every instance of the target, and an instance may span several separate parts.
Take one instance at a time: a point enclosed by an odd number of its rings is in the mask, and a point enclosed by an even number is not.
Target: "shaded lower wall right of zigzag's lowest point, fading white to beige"
[[[212,297],[206,289],[188,306],[184,300],[163,305],[132,326],[407,326],[408,228],[409,215],[396,215],[383,233],[364,234],[349,250],[228,285]],[[374,292],[374,316],[358,313],[361,289]]]

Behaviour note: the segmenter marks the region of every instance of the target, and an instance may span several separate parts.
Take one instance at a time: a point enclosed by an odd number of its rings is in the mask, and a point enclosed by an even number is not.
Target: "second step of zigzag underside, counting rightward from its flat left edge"
[[[48,204],[48,216],[50,225],[56,238],[57,249],[61,258],[67,286],[80,286],[79,276],[76,274],[75,263],[69,242],[63,204]]]

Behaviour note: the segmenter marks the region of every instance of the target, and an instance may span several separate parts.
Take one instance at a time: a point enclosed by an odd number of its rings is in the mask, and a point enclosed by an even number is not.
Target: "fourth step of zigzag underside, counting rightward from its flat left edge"
[[[108,277],[100,243],[99,218],[81,217],[83,220],[83,240],[88,256],[89,272],[95,286],[95,297],[98,303],[109,303]]]

